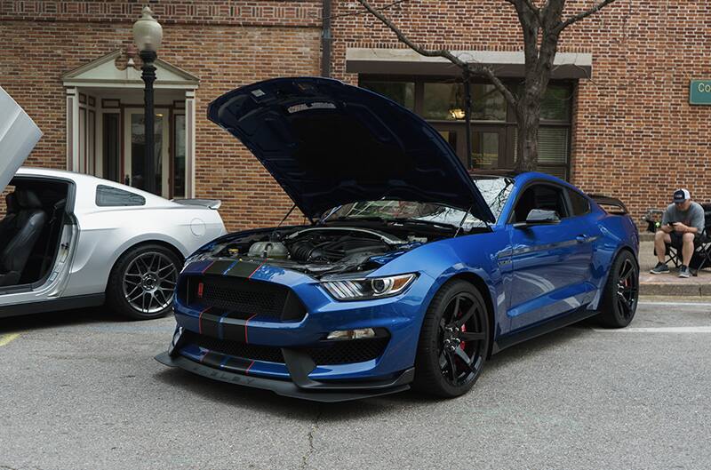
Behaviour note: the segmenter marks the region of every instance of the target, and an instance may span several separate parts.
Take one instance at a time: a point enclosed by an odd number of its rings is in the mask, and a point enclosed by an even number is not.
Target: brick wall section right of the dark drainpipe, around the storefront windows
[[[591,4],[570,0],[566,14]],[[334,76],[354,84],[347,47],[403,47],[357,10],[353,1],[333,8]],[[711,107],[688,104],[691,78],[711,78],[709,12],[711,0],[618,0],[563,33],[559,52],[593,54],[593,80],[579,82],[572,107],[572,182],[619,197],[636,220],[666,206],[676,187],[711,202]],[[522,49],[513,6],[503,0],[419,0],[387,15],[429,48]]]

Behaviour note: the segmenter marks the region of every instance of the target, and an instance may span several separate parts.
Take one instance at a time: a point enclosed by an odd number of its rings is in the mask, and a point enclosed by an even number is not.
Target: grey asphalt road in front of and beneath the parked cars
[[[707,469],[711,304],[509,349],[475,389],[318,404],[153,360],[172,318],[0,320],[0,469]]]

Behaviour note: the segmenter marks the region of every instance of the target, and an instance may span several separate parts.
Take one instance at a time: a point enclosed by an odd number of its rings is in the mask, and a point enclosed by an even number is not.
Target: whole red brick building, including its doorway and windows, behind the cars
[[[592,3],[569,0],[566,12]],[[272,224],[291,205],[252,155],[204,117],[211,100],[243,84],[326,72],[369,87],[424,116],[469,163],[456,68],[403,49],[355,1],[149,4],[164,27],[156,82],[161,192],[222,199],[229,228]],[[324,4],[331,4],[325,31]],[[0,3],[0,85],[44,131],[28,164],[140,184],[142,83],[131,29],[142,6]],[[618,196],[636,219],[666,204],[675,187],[711,200],[711,107],[689,102],[691,80],[711,78],[709,11],[711,0],[618,0],[566,30],[543,107],[541,170]],[[512,87],[520,83],[511,4],[409,0],[387,14],[419,44],[491,63]],[[511,111],[485,80],[475,80],[473,93],[472,167],[511,167]]]

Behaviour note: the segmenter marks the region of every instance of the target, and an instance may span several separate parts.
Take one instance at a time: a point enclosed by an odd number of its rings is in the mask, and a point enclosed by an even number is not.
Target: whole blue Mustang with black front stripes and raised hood
[[[597,201],[619,202],[540,173],[473,179],[419,116],[335,80],[245,86],[208,117],[310,222],[188,258],[166,365],[316,401],[451,397],[505,347],[635,315],[637,229]]]

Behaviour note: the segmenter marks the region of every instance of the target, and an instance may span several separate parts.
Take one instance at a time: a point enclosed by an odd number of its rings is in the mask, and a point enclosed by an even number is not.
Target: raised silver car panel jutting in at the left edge
[[[40,137],[37,124],[0,87],[0,189],[10,183]]]

